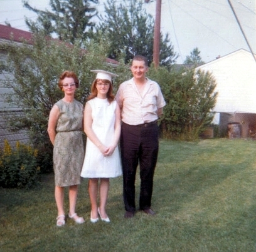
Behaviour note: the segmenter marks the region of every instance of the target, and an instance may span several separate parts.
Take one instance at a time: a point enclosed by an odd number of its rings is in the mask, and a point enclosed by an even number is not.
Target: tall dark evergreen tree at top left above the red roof
[[[38,14],[35,22],[25,18],[32,33],[43,31],[48,36],[56,34],[58,39],[73,44],[75,39],[90,36],[90,29],[95,26],[91,19],[97,14],[90,4],[98,4],[99,0],[50,0],[53,12],[32,8],[28,1],[23,3],[24,7]]]

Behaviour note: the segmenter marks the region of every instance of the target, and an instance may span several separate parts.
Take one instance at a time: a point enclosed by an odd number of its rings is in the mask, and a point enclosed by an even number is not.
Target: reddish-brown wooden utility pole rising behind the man
[[[162,0],[156,0],[156,20],[155,20],[155,26],[154,26],[154,51],[153,51],[153,62],[154,62],[155,68],[158,68],[159,66],[161,5],[162,5]]]

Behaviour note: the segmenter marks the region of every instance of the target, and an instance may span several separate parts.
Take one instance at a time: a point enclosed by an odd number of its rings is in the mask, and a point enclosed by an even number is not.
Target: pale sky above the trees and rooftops
[[[36,9],[51,11],[50,0],[28,0]],[[121,3],[122,0],[117,0]],[[255,0],[230,0],[253,53],[256,54]],[[0,24],[8,21],[13,28],[28,31],[24,16],[36,19],[36,14],[23,7],[22,0],[0,0]],[[143,4],[155,17],[156,0]],[[104,0],[99,0],[99,14],[104,14]],[[176,63],[183,63],[194,48],[208,63],[238,49],[250,51],[243,33],[227,0],[162,0],[161,32],[168,33],[174,51],[179,55]]]

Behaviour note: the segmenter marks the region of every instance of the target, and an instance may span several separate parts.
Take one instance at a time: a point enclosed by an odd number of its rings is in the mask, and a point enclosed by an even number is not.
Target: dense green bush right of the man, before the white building
[[[210,73],[196,71],[169,72],[150,69],[149,76],[160,84],[166,106],[161,118],[164,136],[191,141],[208,126],[216,103],[216,82]]]

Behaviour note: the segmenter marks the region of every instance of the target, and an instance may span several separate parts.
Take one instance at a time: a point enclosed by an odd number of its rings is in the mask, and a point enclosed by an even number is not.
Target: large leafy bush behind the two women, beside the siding
[[[80,41],[73,46],[56,39],[45,38],[44,34],[35,34],[33,46],[23,43],[0,44],[0,50],[8,52],[8,61],[0,64],[0,74],[12,76],[4,85],[13,89],[6,96],[9,104],[16,104],[23,113],[9,118],[9,127],[13,130],[27,129],[31,143],[39,149],[43,163],[51,163],[51,143],[47,134],[48,115],[53,104],[63,97],[58,88],[58,78],[65,70],[75,71],[80,80],[76,99],[83,104],[90,93],[95,74],[91,69],[105,69],[119,74],[117,83],[128,78],[129,69],[120,63],[118,68],[106,63],[106,44],[90,43],[80,48]]]

